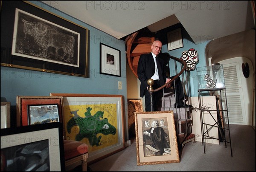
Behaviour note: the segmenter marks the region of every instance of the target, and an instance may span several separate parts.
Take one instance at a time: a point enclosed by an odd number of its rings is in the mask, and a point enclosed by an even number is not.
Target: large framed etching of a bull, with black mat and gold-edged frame
[[[89,77],[89,30],[42,4],[2,2],[1,65]]]

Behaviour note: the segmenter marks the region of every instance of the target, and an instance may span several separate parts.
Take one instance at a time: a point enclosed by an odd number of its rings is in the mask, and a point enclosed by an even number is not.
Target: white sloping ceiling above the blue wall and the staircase
[[[121,39],[181,23],[198,44],[255,28],[250,1],[42,1]]]

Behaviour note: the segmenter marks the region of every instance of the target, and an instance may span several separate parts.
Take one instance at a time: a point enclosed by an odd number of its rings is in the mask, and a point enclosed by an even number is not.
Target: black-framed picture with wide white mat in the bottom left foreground
[[[59,122],[1,129],[1,171],[64,171]]]

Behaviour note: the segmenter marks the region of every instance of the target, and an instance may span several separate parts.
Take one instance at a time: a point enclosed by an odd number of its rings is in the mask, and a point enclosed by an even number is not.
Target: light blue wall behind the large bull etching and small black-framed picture
[[[125,42],[96,28],[87,25],[58,10],[40,5],[38,6],[64,17],[90,30],[89,59],[90,78],[69,76],[55,73],[44,73],[33,70],[23,70],[1,66],[1,101],[11,102],[12,126],[16,125],[16,96],[49,96],[49,93],[82,93],[82,94],[118,94],[125,99],[125,116],[127,116],[127,88],[126,88],[126,54]],[[100,69],[100,42],[121,51],[121,77],[103,75]],[[118,90],[118,81],[122,82],[122,90]],[[14,123],[15,122],[15,123]],[[127,136],[126,136],[127,137]]]

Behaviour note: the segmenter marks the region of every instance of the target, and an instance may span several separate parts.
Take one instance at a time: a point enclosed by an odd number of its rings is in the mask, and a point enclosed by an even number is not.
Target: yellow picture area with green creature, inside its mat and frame
[[[64,114],[67,140],[87,144],[89,152],[117,143],[116,104],[64,105]]]

